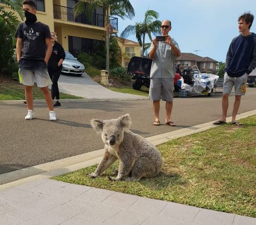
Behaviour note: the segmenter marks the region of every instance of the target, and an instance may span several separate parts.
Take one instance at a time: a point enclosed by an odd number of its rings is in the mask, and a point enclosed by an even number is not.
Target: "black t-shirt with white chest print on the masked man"
[[[44,60],[46,55],[46,38],[51,38],[50,29],[41,22],[26,25],[21,22],[15,33],[16,38],[22,38],[22,59]]]

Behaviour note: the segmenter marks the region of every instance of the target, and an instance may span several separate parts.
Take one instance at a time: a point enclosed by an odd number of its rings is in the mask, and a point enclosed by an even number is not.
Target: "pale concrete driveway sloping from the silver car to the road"
[[[139,95],[113,92],[93,81],[86,73],[81,77],[61,75],[58,86],[60,92],[87,99],[148,99]]]

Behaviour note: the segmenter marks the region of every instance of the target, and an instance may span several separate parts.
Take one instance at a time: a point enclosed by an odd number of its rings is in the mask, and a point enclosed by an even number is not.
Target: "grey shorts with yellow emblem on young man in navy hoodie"
[[[234,86],[234,94],[241,96],[246,92],[247,75],[241,77],[230,77],[227,73],[224,75],[223,94],[230,94]]]

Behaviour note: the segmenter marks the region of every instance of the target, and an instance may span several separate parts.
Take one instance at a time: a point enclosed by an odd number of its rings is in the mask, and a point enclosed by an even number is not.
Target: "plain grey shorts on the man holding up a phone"
[[[174,99],[174,78],[151,78],[150,98],[153,101],[172,102]]]

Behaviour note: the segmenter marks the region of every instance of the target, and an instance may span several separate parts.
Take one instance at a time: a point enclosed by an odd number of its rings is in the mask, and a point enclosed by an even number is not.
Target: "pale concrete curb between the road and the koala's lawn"
[[[237,115],[237,119],[247,118],[256,114],[256,109]],[[227,122],[231,121],[231,117],[227,118]],[[170,140],[188,136],[193,133],[202,132],[212,127],[216,127],[212,122],[207,122],[179,130],[158,134],[156,136],[146,138],[154,145],[160,145]],[[12,188],[30,181],[42,178],[51,178],[53,176],[70,173],[85,167],[92,166],[100,162],[104,149],[75,155],[66,159],[56,160],[25,169],[0,174],[0,190]],[[1,185],[2,184],[2,185]]]

